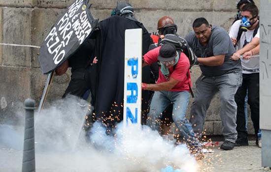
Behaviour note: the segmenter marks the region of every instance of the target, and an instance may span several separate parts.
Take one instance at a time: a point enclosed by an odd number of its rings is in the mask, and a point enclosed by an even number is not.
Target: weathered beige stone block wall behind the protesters
[[[0,43],[39,46],[51,26],[74,0],[0,0]],[[105,19],[117,0],[90,0],[95,18]],[[135,16],[149,32],[156,32],[157,21],[171,16],[178,25],[178,34],[192,30],[192,22],[205,17],[210,24],[229,29],[236,14],[237,0],[126,0],[135,8]],[[259,6],[260,0],[255,0]],[[193,67],[193,82],[201,74]],[[69,82],[68,72],[55,77],[48,102],[61,98]],[[22,102],[32,97],[39,102],[47,76],[39,69],[38,49],[0,45],[0,122],[13,118],[22,110]],[[195,84],[193,85],[195,88]],[[193,100],[191,99],[190,103]],[[14,121],[13,121],[14,120]],[[10,122],[10,120],[8,120]],[[219,97],[207,112],[205,128],[209,135],[221,134]],[[252,134],[252,122],[249,121]]]

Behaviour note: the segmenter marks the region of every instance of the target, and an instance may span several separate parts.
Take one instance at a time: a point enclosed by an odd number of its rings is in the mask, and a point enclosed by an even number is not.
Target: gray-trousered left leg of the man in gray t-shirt
[[[202,134],[206,111],[217,92],[212,78],[201,75],[196,82],[196,95],[191,108],[190,122],[195,133]]]

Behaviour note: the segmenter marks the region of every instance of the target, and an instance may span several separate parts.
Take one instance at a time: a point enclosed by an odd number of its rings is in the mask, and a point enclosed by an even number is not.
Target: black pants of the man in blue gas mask
[[[255,136],[259,131],[259,73],[243,74],[242,86],[240,86],[235,95],[237,103],[237,132],[239,138],[246,138],[247,131],[245,129],[245,113],[244,113],[244,99],[248,89],[248,104],[251,112],[251,119],[253,122]]]

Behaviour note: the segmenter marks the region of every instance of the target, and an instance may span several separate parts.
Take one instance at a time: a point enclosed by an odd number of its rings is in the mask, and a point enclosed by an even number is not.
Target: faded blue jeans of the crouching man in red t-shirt
[[[153,130],[158,130],[163,111],[172,103],[172,119],[178,128],[180,137],[184,138],[189,144],[198,147],[200,142],[193,132],[191,123],[185,118],[189,96],[188,91],[155,91],[150,105],[147,125]]]

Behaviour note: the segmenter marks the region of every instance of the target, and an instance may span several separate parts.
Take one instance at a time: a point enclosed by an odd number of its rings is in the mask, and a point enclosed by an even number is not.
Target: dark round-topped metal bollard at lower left
[[[25,139],[22,172],[35,172],[34,110],[35,101],[25,101]]]

